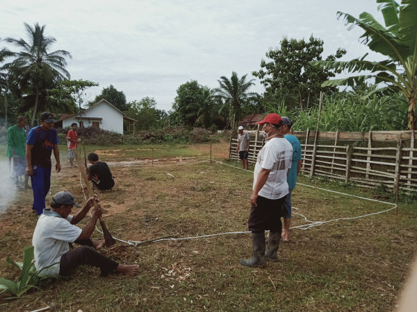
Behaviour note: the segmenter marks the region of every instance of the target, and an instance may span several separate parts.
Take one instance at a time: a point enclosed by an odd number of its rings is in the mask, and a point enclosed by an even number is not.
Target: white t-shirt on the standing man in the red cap
[[[259,196],[279,199],[288,194],[286,175],[288,168],[291,168],[292,157],[293,146],[286,139],[275,137],[266,141],[256,159],[253,189],[261,168],[270,169],[271,171],[268,175],[268,180],[266,180],[258,193]]]

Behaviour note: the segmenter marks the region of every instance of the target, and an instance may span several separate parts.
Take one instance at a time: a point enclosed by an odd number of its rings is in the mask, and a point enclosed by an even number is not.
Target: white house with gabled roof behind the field
[[[56,122],[58,127],[66,128],[71,127],[72,123],[79,125],[79,128],[93,127],[100,128],[107,131],[113,131],[123,134],[123,121],[136,122],[135,119],[131,119],[108,101],[101,99],[95,105],[84,110],[81,113],[72,114],[70,116],[64,116],[67,114],[61,114],[61,118]]]

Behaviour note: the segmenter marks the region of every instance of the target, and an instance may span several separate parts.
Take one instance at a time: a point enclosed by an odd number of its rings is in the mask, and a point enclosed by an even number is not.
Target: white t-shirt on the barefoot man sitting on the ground
[[[60,214],[49,209],[45,209],[38,219],[32,238],[32,245],[35,248],[35,268],[39,271],[56,263],[42,270],[40,275],[59,274],[60,258],[70,250],[68,243],[73,243],[82,232],[82,229],[70,223],[71,220],[72,216],[64,219]]]

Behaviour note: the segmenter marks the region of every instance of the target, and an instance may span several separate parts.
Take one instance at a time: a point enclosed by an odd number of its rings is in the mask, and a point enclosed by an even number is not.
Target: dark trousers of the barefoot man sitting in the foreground
[[[83,264],[100,268],[101,276],[109,275],[119,265],[119,263],[104,257],[93,248],[81,246],[63,254],[63,257],[60,259],[59,275],[69,275],[70,271]]]

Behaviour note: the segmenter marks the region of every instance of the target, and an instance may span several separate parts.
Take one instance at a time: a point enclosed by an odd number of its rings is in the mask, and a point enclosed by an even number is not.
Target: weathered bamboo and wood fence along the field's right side
[[[294,132],[302,146],[302,173],[351,182],[417,191],[417,131]],[[263,146],[250,133],[249,162]],[[313,141],[313,142],[310,142]],[[329,143],[330,142],[330,143]],[[362,146],[361,146],[362,145]],[[237,140],[230,141],[230,159],[237,160]]]

